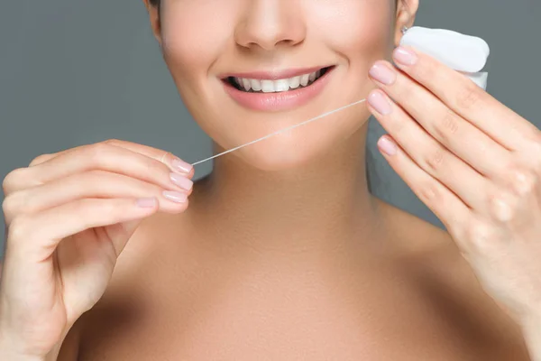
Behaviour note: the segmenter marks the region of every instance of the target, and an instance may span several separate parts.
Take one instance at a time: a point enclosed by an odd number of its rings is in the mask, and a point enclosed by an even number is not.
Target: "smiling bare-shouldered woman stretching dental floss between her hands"
[[[393,51],[417,0],[144,3],[216,152],[368,104],[217,158],[195,186],[188,163],[116,140],[11,172],[0,358],[541,359],[541,136]],[[371,196],[371,114],[449,233]]]

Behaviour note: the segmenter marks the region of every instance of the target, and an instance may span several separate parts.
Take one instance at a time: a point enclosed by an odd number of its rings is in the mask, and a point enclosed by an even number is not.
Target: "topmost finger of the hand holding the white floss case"
[[[507,149],[519,150],[525,139],[539,134],[535,125],[441,61],[411,47],[399,47],[393,57],[399,69]]]

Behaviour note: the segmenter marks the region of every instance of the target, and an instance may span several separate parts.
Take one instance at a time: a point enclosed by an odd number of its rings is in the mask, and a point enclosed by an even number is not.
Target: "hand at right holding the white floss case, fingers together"
[[[377,61],[369,108],[390,166],[444,223],[484,290],[518,322],[541,315],[541,132],[414,49]],[[391,100],[393,99],[393,100]],[[539,325],[541,326],[541,325]]]

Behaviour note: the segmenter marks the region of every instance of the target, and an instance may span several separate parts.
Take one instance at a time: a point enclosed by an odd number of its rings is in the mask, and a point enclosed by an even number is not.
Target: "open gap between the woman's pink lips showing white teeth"
[[[227,77],[224,81],[245,93],[283,93],[298,88],[309,88],[334,67],[326,67],[312,73],[288,79],[247,79]]]

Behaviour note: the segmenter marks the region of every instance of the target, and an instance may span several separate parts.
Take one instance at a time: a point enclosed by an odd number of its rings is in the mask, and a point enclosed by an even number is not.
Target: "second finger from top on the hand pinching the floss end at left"
[[[124,174],[155,183],[163,188],[168,187],[172,176],[170,167],[151,157],[115,145],[95,143],[60,153],[30,168],[11,172],[5,178],[5,193],[9,194],[15,190],[39,186],[78,172],[93,170]],[[184,181],[193,184],[188,178]]]

